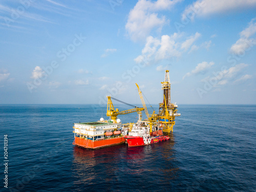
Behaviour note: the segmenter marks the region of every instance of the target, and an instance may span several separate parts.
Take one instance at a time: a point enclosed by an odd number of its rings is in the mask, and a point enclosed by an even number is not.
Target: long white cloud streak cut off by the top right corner
[[[184,10],[182,19],[190,18],[193,20],[196,15],[209,16],[251,7],[256,7],[256,0],[198,0]]]

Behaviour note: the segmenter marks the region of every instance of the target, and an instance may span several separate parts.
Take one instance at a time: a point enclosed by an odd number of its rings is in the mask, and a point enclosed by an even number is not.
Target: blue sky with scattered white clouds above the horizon
[[[255,104],[256,0],[0,3],[0,103]]]

